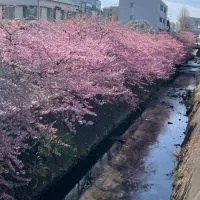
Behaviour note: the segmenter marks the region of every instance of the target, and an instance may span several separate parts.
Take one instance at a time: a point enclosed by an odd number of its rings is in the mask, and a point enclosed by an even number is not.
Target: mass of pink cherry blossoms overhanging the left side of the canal
[[[146,35],[113,22],[1,23],[2,198],[25,176],[19,155],[26,140],[54,132],[42,124],[44,116],[61,113],[73,129],[87,124],[85,115],[96,115],[91,102],[124,101],[135,108],[139,98],[131,86],[167,79],[185,53],[184,44],[168,34]]]

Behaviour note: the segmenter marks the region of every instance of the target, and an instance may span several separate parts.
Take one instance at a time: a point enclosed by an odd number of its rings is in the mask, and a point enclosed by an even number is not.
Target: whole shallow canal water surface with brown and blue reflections
[[[142,116],[65,200],[169,200],[188,122],[182,96],[195,88],[198,67],[190,63],[159,88]]]

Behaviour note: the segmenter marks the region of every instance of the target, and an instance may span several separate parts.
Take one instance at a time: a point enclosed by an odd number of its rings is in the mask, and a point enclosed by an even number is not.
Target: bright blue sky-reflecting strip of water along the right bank
[[[161,101],[169,104],[172,109],[169,110],[168,120],[162,124],[155,144],[149,147],[148,155],[143,158],[145,160],[145,170],[141,171],[138,179],[143,182],[142,185],[150,185],[150,187],[148,190],[138,188],[136,192],[132,193],[130,199],[170,199],[173,181],[171,173],[176,167],[176,155],[180,150],[179,146],[183,142],[188,122],[186,107],[181,102],[180,96],[185,93],[185,89],[193,89],[195,86],[194,82],[192,76],[181,75],[171,85],[165,95],[160,98]],[[173,124],[168,124],[168,122]]]

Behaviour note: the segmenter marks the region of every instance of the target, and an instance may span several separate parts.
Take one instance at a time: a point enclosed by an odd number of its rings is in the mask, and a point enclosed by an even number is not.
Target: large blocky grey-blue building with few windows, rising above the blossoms
[[[162,0],[119,0],[119,21],[147,20],[155,31],[167,31],[168,6]]]

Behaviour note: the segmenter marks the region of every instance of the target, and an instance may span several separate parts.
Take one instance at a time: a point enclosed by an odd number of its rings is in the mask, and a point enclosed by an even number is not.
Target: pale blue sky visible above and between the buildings
[[[118,5],[118,0],[101,0],[102,7]],[[148,1],[148,0],[147,0]],[[200,18],[200,0],[164,0],[169,6],[168,17],[172,21],[177,20],[177,16],[182,7],[187,7],[191,17]]]

